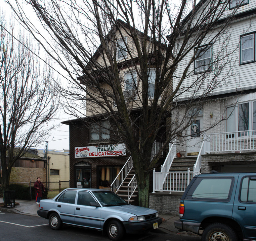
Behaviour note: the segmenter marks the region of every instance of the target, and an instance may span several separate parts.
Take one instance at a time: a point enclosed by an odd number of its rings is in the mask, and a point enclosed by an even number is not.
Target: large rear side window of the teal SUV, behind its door
[[[232,177],[198,177],[193,186],[188,190],[186,199],[228,202],[233,182]]]

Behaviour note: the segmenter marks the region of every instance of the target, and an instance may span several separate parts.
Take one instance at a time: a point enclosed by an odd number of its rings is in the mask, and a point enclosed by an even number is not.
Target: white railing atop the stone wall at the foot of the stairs
[[[153,171],[153,192],[168,191],[184,192],[189,182],[193,179],[196,173],[189,170],[181,172],[156,172]],[[166,176],[164,184],[162,178]]]

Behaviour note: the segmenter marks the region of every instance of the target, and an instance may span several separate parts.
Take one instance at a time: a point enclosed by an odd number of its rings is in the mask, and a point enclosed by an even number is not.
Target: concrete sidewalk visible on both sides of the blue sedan
[[[3,203],[3,198],[0,198],[0,203]],[[37,210],[39,209],[39,205],[36,204],[35,200],[27,201],[27,200],[15,200],[15,203],[19,203],[13,208],[0,208],[0,212],[8,212],[8,213],[16,213],[16,214],[24,214],[30,216],[37,216]],[[179,219],[178,215],[169,215],[169,214],[159,214],[159,217],[163,219],[162,224],[156,230],[156,232],[167,233],[167,234],[192,234],[186,232],[179,232],[174,227],[174,221]],[[196,235],[196,234],[193,234]]]

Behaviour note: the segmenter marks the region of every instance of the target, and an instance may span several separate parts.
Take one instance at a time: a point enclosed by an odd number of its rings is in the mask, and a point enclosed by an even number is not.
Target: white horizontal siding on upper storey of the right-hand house
[[[219,54],[223,51],[230,52],[230,50],[236,49],[234,53],[229,55],[230,59],[230,65],[227,65],[222,71],[221,74],[217,76],[217,81],[219,83],[219,86],[217,86],[214,89],[214,94],[221,94],[221,93],[227,93],[227,92],[236,92],[236,90],[241,89],[252,89],[256,87],[256,82],[254,78],[254,70],[256,67],[256,63],[251,64],[245,64],[245,65],[239,65],[240,61],[240,48],[239,48],[239,42],[240,42],[240,35],[244,34],[246,32],[253,32],[256,31],[256,18],[251,19],[245,19],[239,22],[235,22],[231,25],[230,29],[228,29],[228,32],[226,34],[223,34],[221,38],[213,45],[213,61],[214,58],[216,58],[216,54]],[[229,37],[230,34],[230,37]],[[208,40],[205,41],[206,44],[208,44]],[[221,47],[227,44],[227,49],[222,50]],[[192,56],[193,51],[190,52],[190,55]],[[186,58],[182,64],[179,65],[176,71],[177,76],[181,76],[183,73],[183,70],[185,66],[187,65],[189,61],[189,58]],[[230,66],[232,66],[232,71],[228,73]],[[216,65],[214,65],[216,67]],[[214,68],[213,67],[213,68]],[[195,79],[200,76],[194,75],[193,73],[194,64],[190,66],[189,71],[191,74],[185,79],[183,82],[183,86],[189,86],[191,83],[195,82]],[[211,72],[207,78],[204,79],[204,86],[203,88],[207,88],[207,85],[209,84],[208,81],[210,81],[213,78],[214,72]],[[224,80],[223,80],[224,79]],[[174,78],[174,88],[177,86],[178,79]],[[199,89],[199,85],[195,86],[195,90]],[[189,97],[191,96],[191,89],[189,92],[186,92],[181,95],[181,98]],[[203,93],[202,90],[199,90],[197,93],[198,95],[201,95]]]

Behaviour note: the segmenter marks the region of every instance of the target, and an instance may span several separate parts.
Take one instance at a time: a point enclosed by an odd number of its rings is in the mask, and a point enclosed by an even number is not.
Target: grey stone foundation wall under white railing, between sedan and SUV
[[[162,214],[179,214],[179,203],[183,192],[168,193],[156,192],[150,193],[149,206]]]

